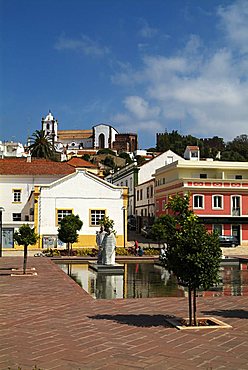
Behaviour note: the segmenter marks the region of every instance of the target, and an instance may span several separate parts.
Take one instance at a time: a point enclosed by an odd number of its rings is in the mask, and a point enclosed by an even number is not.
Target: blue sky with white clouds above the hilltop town
[[[247,134],[248,0],[0,0],[0,140],[107,123]]]

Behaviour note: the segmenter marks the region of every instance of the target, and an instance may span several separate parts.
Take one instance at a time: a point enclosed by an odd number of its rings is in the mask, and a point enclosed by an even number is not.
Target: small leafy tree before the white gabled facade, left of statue
[[[78,233],[83,226],[83,222],[80,220],[79,216],[69,215],[64,217],[60,221],[60,226],[58,228],[58,238],[63,243],[67,244],[68,256],[70,255],[70,246],[78,241]]]

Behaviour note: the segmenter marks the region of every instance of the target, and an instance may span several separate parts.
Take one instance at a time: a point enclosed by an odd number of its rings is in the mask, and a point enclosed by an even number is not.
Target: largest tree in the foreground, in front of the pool
[[[167,242],[165,265],[177,276],[178,283],[188,288],[189,325],[192,321],[197,325],[196,291],[218,282],[221,248],[218,234],[210,234],[189,209],[189,199],[189,195],[169,198],[168,214],[158,218],[152,232],[156,234],[159,229],[158,237]]]

